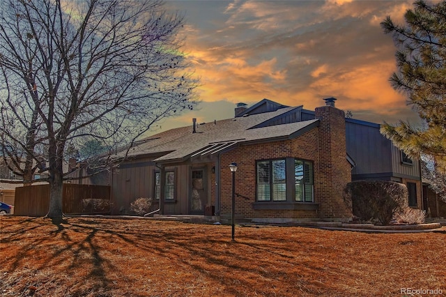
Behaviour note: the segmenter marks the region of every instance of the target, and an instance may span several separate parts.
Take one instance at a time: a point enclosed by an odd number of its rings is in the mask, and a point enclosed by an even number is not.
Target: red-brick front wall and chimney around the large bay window
[[[342,190],[351,181],[346,160],[344,112],[334,107],[316,108],[318,128],[295,139],[240,146],[222,154],[220,162],[221,214],[231,213],[232,176],[229,164],[236,162],[236,217],[240,218],[351,218]],[[254,210],[256,201],[256,160],[297,158],[314,162],[314,202],[318,210]],[[279,202],[278,202],[279,203]]]

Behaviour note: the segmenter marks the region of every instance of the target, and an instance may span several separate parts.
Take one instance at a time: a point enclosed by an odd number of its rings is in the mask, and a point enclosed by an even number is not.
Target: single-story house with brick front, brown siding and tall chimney
[[[192,126],[141,139],[110,174],[114,213],[128,213],[134,199],[151,197],[161,214],[206,211],[227,218],[232,162],[238,165],[236,218],[350,220],[342,191],[362,178],[415,184],[411,199],[420,208],[419,163],[404,159],[379,125],[346,119],[334,100],[309,111],[264,99],[238,105],[232,119],[193,119]]]

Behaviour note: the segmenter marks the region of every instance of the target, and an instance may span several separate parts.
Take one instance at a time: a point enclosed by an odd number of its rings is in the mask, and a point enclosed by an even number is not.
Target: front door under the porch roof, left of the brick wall
[[[190,213],[203,215],[208,201],[206,190],[206,172],[204,169],[192,169],[192,192],[190,195]]]

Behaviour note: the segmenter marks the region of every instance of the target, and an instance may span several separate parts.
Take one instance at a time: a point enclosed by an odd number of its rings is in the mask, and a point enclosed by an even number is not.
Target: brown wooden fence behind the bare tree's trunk
[[[109,213],[111,208],[108,185],[63,184],[62,211],[75,213]],[[15,215],[41,217],[49,209],[49,185],[15,188]]]

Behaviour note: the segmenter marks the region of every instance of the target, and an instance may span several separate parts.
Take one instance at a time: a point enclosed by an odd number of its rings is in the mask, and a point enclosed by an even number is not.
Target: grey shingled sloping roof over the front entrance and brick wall
[[[197,125],[171,129],[142,139],[128,153],[130,158],[155,156],[155,162],[178,162],[207,153],[229,150],[239,144],[292,139],[318,125],[318,120],[253,128],[280,114],[298,107],[285,107],[266,112]],[[116,155],[123,157],[123,153]]]

